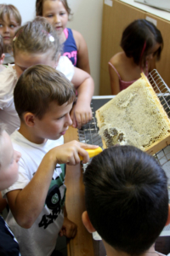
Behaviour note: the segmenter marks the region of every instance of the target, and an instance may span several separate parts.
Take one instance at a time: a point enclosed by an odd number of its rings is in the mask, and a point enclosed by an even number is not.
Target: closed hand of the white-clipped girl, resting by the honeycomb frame
[[[86,102],[77,102],[71,109],[72,126],[80,129],[92,119],[92,109]]]

